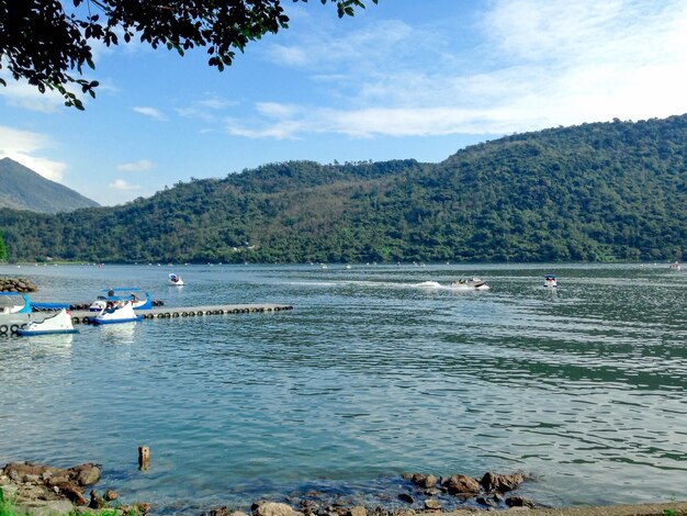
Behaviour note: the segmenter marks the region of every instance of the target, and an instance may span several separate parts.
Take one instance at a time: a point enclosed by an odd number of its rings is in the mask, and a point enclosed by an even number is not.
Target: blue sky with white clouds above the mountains
[[[687,112],[685,0],[380,0],[344,20],[284,7],[290,29],[223,72],[203,49],[97,47],[86,112],[8,79],[0,157],[113,205],[266,162],[440,161],[505,134]]]

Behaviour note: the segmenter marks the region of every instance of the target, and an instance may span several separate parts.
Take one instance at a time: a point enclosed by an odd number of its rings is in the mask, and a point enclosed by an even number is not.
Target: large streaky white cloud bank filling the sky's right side
[[[251,138],[505,134],[687,112],[684,0],[486,5],[478,23],[453,34],[386,21],[341,37],[314,27],[272,45],[271,60],[313,71],[327,98],[257,102],[227,131]],[[482,44],[460,42],[469,29]]]

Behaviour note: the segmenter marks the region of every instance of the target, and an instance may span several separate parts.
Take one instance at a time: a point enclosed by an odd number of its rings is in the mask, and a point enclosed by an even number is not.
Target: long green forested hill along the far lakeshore
[[[59,217],[0,210],[10,259],[675,260],[687,115],[519,134],[412,159],[264,165]]]

